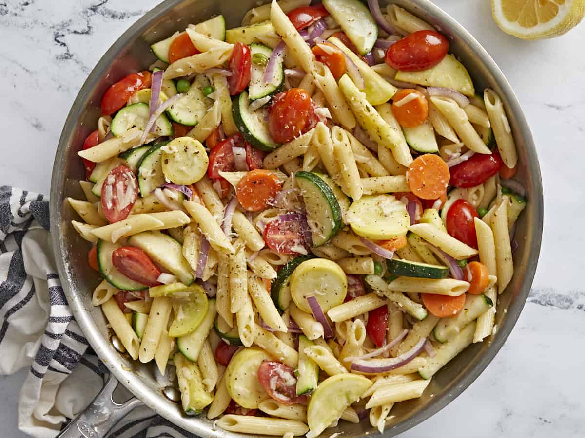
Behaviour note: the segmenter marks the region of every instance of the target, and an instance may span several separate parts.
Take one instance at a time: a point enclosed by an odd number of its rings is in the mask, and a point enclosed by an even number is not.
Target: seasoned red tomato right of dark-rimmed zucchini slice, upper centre
[[[268,128],[274,141],[286,143],[301,135],[309,122],[311,96],[302,88],[291,88],[274,97]]]

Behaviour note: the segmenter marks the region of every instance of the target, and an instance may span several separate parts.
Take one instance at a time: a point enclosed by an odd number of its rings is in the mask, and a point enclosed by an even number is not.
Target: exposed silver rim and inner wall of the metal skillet
[[[468,347],[439,371],[422,398],[397,404],[393,409],[394,419],[388,422],[383,434],[385,437],[404,432],[446,406],[479,376],[500,350],[528,297],[538,262],[543,221],[542,181],[534,142],[518,100],[500,69],[459,23],[431,2],[397,0],[394,3],[432,23],[449,37],[450,51],[467,67],[477,90],[489,86],[502,97],[518,148],[516,178],[524,183],[529,203],[518,221],[519,246],[514,253],[514,277],[507,291],[498,297],[497,332],[487,341]],[[91,304],[91,290],[99,279],[87,266],[90,246],[71,227],[70,220],[76,218],[75,213],[63,200],[66,196],[82,196],[77,180],[84,178],[84,171],[76,152],[84,138],[95,129],[99,103],[106,88],[153,62],[155,58],[149,44],[154,41],[184,29],[188,23],[201,22],[218,13],[225,16],[228,27],[239,26],[244,13],[252,6],[256,6],[256,0],[167,0],[131,26],[101,58],[82,86],[61,134],[51,183],[51,237],[59,274],[75,319],[91,346],[121,383],[144,404],[176,425],[205,438],[240,434],[214,429],[213,422],[204,415],[184,415],[180,405],[164,397],[154,367],[134,363],[127,355],[116,352],[109,342],[101,310]],[[357,425],[342,421],[337,427],[327,429],[323,436],[336,432],[343,432],[346,438],[378,434],[365,421]]]

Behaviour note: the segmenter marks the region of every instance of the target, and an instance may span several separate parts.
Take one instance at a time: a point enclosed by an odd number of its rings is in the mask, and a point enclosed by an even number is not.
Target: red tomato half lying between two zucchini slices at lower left
[[[159,285],[160,269],[140,248],[122,246],[112,252],[112,265],[130,280],[153,287]]]

